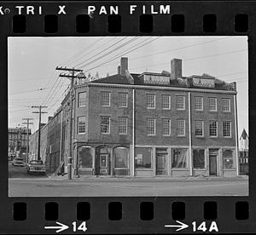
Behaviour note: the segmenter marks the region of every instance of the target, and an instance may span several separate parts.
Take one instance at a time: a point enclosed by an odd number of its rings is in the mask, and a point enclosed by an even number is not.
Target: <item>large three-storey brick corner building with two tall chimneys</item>
[[[61,161],[67,170],[70,94],[61,102]],[[117,74],[73,87],[72,152],[79,175],[238,175],[236,83],[203,74]],[[55,117],[53,117],[55,118]]]

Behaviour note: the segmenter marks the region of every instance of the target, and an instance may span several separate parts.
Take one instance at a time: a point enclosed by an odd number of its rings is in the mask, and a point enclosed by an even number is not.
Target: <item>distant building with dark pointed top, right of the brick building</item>
[[[240,149],[239,149],[239,163],[240,163],[240,174],[248,174],[249,164],[249,136],[245,129],[242,130],[240,136]]]

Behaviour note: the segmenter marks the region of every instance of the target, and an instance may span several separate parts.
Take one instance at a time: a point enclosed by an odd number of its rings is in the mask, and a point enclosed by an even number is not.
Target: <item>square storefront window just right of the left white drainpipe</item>
[[[135,149],[135,168],[151,168],[152,148],[137,147]]]

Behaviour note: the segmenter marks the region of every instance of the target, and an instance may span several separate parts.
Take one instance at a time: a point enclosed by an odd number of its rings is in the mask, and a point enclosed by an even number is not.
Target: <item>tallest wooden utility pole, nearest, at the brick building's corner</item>
[[[72,180],[72,160],[73,160],[73,151],[72,151],[72,130],[73,130],[73,123],[72,123],[72,112],[73,112],[73,82],[74,78],[77,77],[75,76],[75,72],[83,72],[81,69],[75,69],[75,68],[67,68],[67,67],[56,67],[56,70],[61,70],[61,71],[67,71],[70,72],[70,74],[60,74],[60,77],[67,77],[70,79],[70,93],[69,93],[69,106],[70,106],[70,121],[69,121],[69,156],[67,159],[67,166],[68,166],[68,180]],[[77,174],[77,172],[76,172]]]

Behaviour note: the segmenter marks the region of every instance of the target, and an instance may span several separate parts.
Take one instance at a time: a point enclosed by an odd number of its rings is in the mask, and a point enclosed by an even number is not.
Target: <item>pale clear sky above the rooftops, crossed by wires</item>
[[[56,66],[79,68],[100,77],[117,73],[121,56],[129,59],[129,72],[171,71],[171,60],[183,60],[183,76],[207,73],[227,83],[236,82],[238,131],[248,133],[247,37],[9,37],[9,127],[25,127],[31,117],[32,132],[61,105],[70,81],[58,77]],[[249,133],[248,133],[249,135]]]

